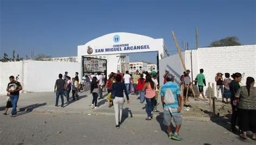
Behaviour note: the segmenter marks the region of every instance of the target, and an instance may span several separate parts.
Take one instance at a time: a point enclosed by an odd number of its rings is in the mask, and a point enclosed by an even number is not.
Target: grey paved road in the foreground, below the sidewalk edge
[[[124,114],[119,129],[113,115],[22,112],[12,118],[0,112],[0,144],[253,144],[211,121],[184,120],[183,141],[167,138],[163,118],[152,121]],[[60,133],[61,132],[61,133]]]

